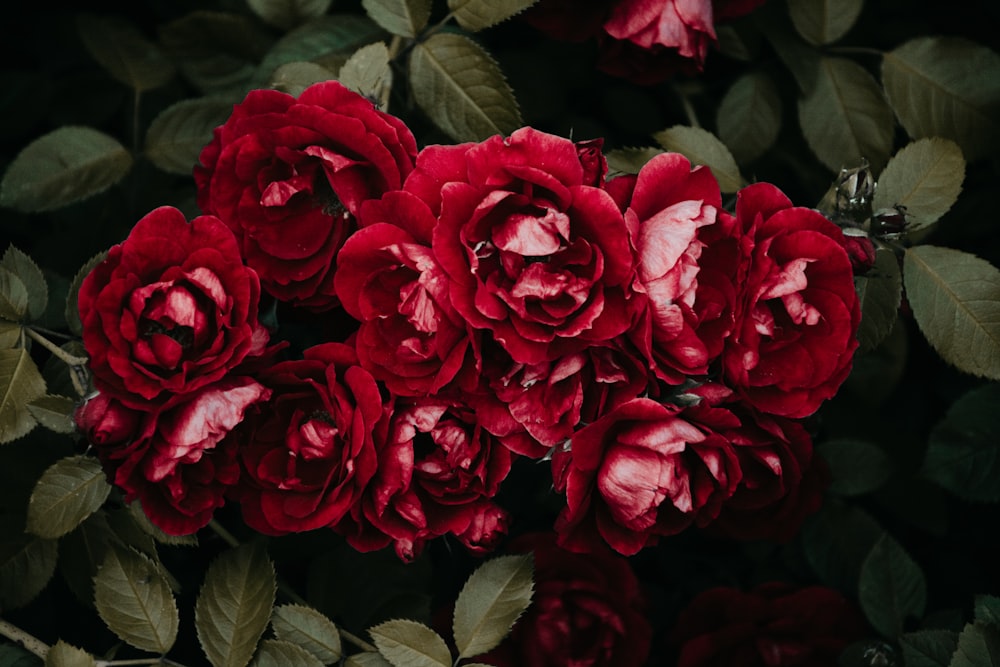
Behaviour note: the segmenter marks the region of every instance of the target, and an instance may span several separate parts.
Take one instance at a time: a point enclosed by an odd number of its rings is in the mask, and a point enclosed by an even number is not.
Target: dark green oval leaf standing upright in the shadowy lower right
[[[872,627],[894,639],[906,618],[923,616],[927,582],[920,566],[903,547],[883,533],[861,566],[858,602]]]

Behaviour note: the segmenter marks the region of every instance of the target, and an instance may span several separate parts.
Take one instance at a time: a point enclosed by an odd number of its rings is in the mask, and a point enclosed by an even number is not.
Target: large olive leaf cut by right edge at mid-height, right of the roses
[[[903,284],[920,330],[941,358],[1000,379],[1000,271],[959,250],[909,248]]]

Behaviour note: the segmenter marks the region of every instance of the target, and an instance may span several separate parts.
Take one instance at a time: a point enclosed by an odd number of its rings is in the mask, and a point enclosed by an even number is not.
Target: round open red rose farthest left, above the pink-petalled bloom
[[[174,208],[150,212],[80,288],[95,385],[148,410],[218,381],[264,350],[259,298],[257,274],[218,219],[189,224]]]

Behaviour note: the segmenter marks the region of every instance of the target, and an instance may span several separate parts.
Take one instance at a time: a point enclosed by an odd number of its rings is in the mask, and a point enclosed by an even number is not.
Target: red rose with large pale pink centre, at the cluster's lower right
[[[726,410],[689,411],[698,425],[637,398],[573,434],[570,449],[552,459],[556,488],[566,493],[556,520],[560,546],[588,551],[603,538],[630,556],[715,518],[741,473],[732,445],[713,429],[739,422]]]

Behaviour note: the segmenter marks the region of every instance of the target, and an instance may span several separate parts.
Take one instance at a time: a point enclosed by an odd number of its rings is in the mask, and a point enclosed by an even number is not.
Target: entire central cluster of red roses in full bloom
[[[840,228],[774,186],[728,212],[679,154],[609,176],[600,141],[532,128],[418,151],[337,82],[251,92],[195,180],[204,215],[153,211],[79,297],[77,422],[164,530],[232,500],[264,534],[483,553],[521,458],[576,552],[782,539],[817,507],[802,419],[860,310]]]

